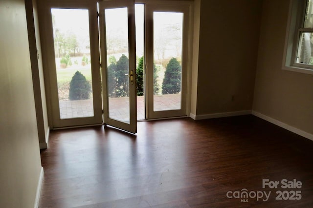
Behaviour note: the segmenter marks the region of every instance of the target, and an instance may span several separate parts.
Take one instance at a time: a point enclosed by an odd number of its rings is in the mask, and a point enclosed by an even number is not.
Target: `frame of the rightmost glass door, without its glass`
[[[161,2],[161,3],[160,3]],[[146,118],[160,119],[169,117],[186,117],[189,113],[190,68],[191,68],[191,8],[192,2],[182,1],[147,1],[146,17]],[[181,12],[183,13],[183,40],[182,40],[182,76],[181,76],[181,109],[154,111],[154,39],[153,39],[153,12]]]

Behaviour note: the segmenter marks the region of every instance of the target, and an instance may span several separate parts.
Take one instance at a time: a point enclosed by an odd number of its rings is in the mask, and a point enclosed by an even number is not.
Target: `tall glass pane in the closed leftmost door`
[[[51,9],[60,118],[93,117],[87,9]]]

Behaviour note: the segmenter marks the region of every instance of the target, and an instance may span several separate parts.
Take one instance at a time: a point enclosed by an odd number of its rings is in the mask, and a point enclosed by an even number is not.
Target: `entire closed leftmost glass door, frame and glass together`
[[[38,2],[51,128],[103,124],[97,5]]]

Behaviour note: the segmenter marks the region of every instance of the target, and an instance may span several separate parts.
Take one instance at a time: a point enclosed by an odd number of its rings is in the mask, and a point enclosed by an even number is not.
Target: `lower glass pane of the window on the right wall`
[[[313,64],[312,45],[313,45],[313,33],[302,33],[299,41],[296,62]]]

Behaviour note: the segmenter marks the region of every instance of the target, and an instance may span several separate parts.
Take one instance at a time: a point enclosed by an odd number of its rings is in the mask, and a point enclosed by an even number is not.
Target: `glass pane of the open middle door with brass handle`
[[[105,10],[109,117],[130,124],[128,11]]]

